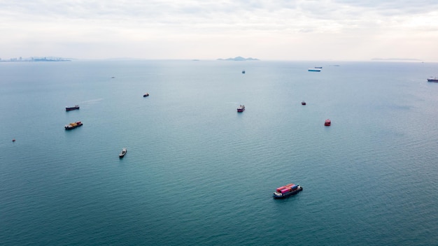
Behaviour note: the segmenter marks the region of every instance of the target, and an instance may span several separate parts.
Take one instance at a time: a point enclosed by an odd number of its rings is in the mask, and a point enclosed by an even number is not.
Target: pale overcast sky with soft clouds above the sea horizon
[[[437,0],[0,0],[0,58],[438,61]]]

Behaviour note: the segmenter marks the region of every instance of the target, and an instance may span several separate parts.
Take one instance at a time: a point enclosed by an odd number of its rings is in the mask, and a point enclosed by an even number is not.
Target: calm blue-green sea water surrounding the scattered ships
[[[438,63],[1,62],[0,245],[438,245],[430,76]],[[290,182],[304,190],[274,200]]]

